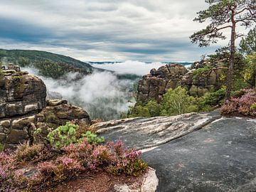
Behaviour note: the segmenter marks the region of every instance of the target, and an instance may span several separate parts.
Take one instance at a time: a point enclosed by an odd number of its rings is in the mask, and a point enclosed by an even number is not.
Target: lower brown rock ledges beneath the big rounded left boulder
[[[69,105],[65,100],[47,100],[47,106],[37,114],[0,119],[0,143],[5,149],[14,149],[23,142],[37,142],[33,137],[35,127],[41,128],[46,136],[49,128],[57,128],[73,119],[90,124],[90,117],[82,108]]]

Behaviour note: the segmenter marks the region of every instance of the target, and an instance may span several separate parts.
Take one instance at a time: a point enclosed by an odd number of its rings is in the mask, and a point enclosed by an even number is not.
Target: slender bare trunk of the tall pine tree
[[[227,77],[227,87],[225,92],[225,102],[230,100],[230,93],[232,89],[232,82],[233,82],[233,70],[235,64],[235,11],[232,11],[231,16],[232,21],[232,31],[231,31],[231,45],[230,45],[230,65],[228,67],[228,77]]]

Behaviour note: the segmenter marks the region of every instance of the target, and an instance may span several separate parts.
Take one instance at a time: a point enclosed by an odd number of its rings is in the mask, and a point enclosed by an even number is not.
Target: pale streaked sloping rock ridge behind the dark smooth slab
[[[130,118],[94,124],[106,140],[121,139],[128,147],[146,149],[170,142],[220,119],[218,111],[182,114],[175,117]]]

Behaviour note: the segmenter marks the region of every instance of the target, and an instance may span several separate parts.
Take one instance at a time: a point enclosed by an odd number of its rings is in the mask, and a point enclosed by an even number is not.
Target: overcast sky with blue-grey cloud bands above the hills
[[[194,61],[226,42],[198,48],[188,38],[204,0],[1,0],[0,47],[83,61]]]

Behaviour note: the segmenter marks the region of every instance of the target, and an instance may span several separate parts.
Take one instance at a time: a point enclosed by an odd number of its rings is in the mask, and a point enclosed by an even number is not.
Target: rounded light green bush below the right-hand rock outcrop
[[[195,112],[198,110],[195,102],[195,98],[188,95],[185,88],[177,87],[174,90],[168,90],[161,102],[161,114],[172,116]]]

